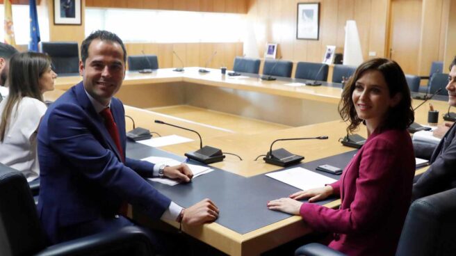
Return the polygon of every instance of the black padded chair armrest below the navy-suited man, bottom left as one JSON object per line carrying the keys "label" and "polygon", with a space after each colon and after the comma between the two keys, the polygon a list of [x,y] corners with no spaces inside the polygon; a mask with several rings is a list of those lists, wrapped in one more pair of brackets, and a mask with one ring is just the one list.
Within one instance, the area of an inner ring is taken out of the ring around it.
{"label": "black padded chair armrest below the navy-suited man, bottom left", "polygon": [[154,255],[149,230],[129,226],[114,232],[102,232],[74,239],[42,250],[36,255]]}

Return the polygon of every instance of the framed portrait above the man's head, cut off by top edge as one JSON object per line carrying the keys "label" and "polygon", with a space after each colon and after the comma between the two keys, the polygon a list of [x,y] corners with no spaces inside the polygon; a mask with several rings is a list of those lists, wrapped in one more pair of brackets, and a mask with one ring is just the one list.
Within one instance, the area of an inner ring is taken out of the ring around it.
{"label": "framed portrait above the man's head, cut off by top edge", "polygon": [[81,0],[54,0],[54,24],[81,25]]}

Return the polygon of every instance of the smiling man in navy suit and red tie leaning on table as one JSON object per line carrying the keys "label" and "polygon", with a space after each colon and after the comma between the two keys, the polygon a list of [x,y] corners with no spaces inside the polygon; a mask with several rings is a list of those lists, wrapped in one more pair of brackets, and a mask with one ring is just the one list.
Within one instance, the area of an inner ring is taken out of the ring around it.
{"label": "smiling man in navy suit and red tie leaning on table", "polygon": [[51,104],[42,119],[38,214],[51,243],[133,225],[120,210],[127,202],[151,218],[187,225],[218,217],[211,200],[183,209],[143,178],[190,182],[193,174],[185,164],[154,166],[125,157],[124,107],[113,95],[122,85],[126,58],[117,35],[89,35],[81,45],[83,81]]}

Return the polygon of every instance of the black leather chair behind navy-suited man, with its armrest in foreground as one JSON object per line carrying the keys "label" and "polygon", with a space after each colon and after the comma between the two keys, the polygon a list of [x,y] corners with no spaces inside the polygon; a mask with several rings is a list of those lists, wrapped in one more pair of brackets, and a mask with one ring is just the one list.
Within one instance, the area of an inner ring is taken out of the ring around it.
{"label": "black leather chair behind navy-suited man, with its armrest in foreground", "polygon": [[148,231],[124,227],[47,246],[29,184],[0,163],[0,255],[153,255]]}

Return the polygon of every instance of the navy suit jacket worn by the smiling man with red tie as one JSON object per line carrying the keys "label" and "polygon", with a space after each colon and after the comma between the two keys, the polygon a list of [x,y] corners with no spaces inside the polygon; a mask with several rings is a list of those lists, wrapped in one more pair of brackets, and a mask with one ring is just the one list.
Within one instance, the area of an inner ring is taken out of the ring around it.
{"label": "navy suit jacket worn by the smiling man with red tie", "polygon": [[[124,107],[119,99],[111,100],[111,112],[125,152]],[[112,229],[115,223],[109,220],[115,219],[122,202],[141,207],[152,218],[160,218],[170,205],[170,199],[143,178],[152,177],[152,163],[129,158],[122,163],[82,82],[51,104],[42,118],[38,158],[38,214],[52,243],[65,241],[65,232],[83,225],[89,234]]]}

